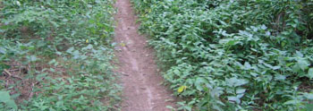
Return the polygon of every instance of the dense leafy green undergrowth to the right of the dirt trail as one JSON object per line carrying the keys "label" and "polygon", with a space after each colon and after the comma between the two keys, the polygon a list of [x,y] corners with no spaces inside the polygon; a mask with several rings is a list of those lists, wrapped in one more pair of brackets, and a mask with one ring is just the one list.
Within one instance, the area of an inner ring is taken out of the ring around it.
{"label": "dense leafy green undergrowth to the right of the dirt trail", "polygon": [[312,0],[132,0],[183,110],[312,110]]}

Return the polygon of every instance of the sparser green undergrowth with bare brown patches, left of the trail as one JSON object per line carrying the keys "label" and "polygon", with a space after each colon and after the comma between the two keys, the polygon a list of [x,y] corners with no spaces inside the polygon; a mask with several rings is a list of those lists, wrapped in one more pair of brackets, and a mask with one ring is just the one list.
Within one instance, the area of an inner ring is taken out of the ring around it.
{"label": "sparser green undergrowth with bare brown patches, left of the trail", "polygon": [[0,110],[115,110],[113,0],[0,0]]}

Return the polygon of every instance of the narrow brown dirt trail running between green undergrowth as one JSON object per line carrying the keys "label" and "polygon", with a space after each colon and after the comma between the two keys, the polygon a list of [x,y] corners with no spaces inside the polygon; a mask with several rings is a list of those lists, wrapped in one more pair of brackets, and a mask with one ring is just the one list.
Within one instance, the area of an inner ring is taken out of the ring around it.
{"label": "narrow brown dirt trail running between green undergrowth", "polygon": [[169,111],[174,106],[171,93],[161,83],[157,74],[153,49],[148,47],[147,38],[138,33],[139,24],[131,8],[130,0],[117,0],[118,13],[115,20],[114,41],[120,51],[118,73],[122,73],[122,111]]}

